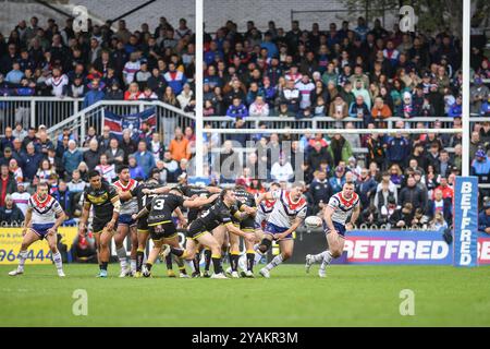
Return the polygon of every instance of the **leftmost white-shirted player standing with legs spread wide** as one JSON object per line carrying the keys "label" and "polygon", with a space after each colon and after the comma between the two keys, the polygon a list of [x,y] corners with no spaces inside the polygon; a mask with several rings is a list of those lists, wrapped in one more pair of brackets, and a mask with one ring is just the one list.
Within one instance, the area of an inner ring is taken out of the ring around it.
{"label": "leftmost white-shirted player standing with legs spread wide", "polygon": [[24,264],[27,258],[27,249],[34,242],[46,238],[49,249],[52,253],[52,260],[57,266],[58,275],[64,276],[61,253],[58,251],[57,229],[66,218],[60,203],[48,194],[48,184],[39,183],[36,194],[34,194],[27,204],[27,212],[24,221],[22,234],[21,251],[19,252],[19,266],[15,270],[9,273],[10,276],[24,274]]}

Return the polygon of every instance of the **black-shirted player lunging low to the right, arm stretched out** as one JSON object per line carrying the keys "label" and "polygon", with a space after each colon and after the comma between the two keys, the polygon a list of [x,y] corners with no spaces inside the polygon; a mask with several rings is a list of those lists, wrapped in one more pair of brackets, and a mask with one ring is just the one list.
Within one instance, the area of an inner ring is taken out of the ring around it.
{"label": "black-shirted player lunging low to the right, arm stretched out", "polygon": [[[185,260],[193,260],[197,251],[197,243],[200,243],[211,250],[211,258],[215,267],[215,274],[211,278],[225,279],[221,266],[221,244],[210,233],[215,228],[223,225],[232,233],[244,237],[246,240],[255,241],[255,234],[244,232],[233,225],[232,212],[235,207],[235,193],[230,189],[224,189],[218,200],[207,212],[194,220],[187,228],[187,243],[185,250],[171,248],[171,252]],[[163,250],[168,253],[168,249]]]}

